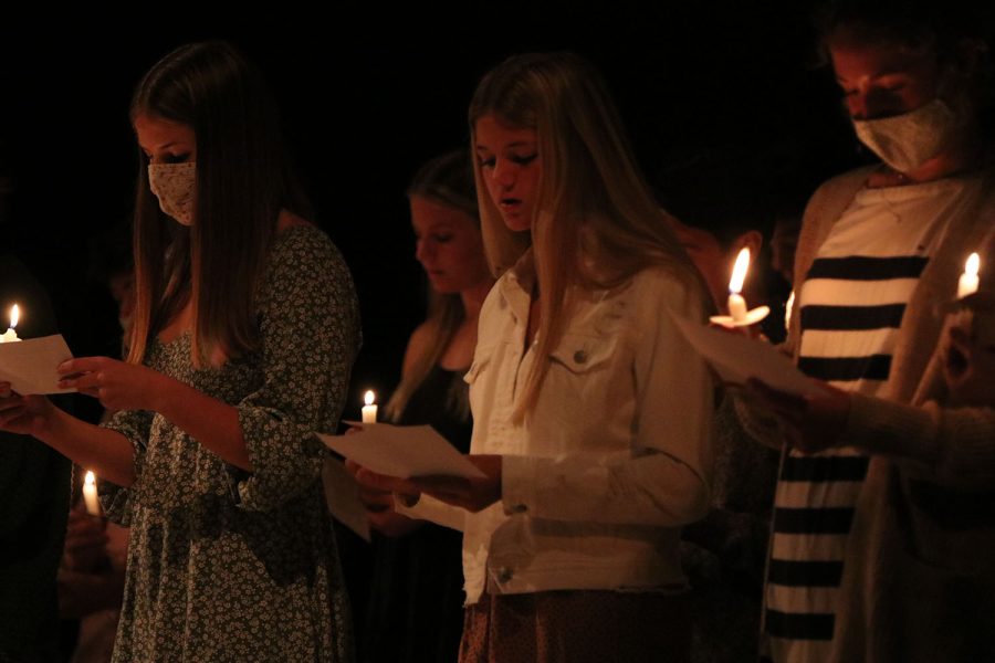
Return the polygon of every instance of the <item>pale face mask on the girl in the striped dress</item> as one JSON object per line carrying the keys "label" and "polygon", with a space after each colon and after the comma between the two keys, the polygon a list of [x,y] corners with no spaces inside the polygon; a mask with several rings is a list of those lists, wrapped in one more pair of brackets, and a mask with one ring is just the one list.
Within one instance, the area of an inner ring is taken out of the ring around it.
{"label": "pale face mask on the girl in the striped dress", "polygon": [[881,119],[855,119],[860,141],[898,170],[915,170],[947,147],[962,117],[936,98],[909,113]]}

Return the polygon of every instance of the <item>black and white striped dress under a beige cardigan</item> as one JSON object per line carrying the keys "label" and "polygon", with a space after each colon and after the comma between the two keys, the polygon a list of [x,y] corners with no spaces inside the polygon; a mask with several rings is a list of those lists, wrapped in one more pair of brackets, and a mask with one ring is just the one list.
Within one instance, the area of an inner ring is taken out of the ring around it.
{"label": "black and white striped dress under a beige cardigan", "polygon": [[[905,304],[963,187],[951,179],[857,193],[798,295],[806,375],[847,391],[881,391]],[[868,462],[847,446],[785,452],[765,588],[762,650],[773,661],[827,659]]]}

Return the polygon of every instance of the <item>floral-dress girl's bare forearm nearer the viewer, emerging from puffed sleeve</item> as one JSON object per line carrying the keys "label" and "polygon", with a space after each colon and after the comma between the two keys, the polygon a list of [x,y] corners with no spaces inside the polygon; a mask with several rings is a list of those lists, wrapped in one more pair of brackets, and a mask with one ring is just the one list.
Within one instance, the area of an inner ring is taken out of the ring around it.
{"label": "floral-dress girl's bare forearm nearer the viewer, emerging from puffed sleeve", "polygon": [[235,407],[165,378],[153,409],[224,462],[252,471]]}

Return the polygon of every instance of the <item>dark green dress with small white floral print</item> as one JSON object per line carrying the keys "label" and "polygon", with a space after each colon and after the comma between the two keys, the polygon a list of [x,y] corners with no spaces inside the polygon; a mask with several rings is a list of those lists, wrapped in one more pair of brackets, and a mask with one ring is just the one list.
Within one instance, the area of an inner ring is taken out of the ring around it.
{"label": "dark green dress with small white floral print", "polygon": [[135,448],[137,480],[102,482],[132,529],[114,661],[349,661],[352,622],[321,482],[360,343],[349,272],[327,236],[275,240],[258,294],[261,347],[195,369],[190,339],[154,343],[146,364],[238,408],[253,472],[160,414],[106,425]]}

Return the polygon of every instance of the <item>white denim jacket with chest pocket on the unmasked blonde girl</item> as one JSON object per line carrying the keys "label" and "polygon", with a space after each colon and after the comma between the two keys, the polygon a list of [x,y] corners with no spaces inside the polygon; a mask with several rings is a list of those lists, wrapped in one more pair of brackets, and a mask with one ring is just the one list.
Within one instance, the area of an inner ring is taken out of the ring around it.
{"label": "white denim jacket with chest pocket on the unmasked blonde girl", "polygon": [[709,506],[713,385],[670,316],[703,320],[701,304],[662,269],[583,295],[515,423],[535,360],[531,278],[526,257],[488,295],[465,378],[471,453],[503,456],[502,501],[469,514],[422,496],[402,511],[464,530],[468,604],[485,588],[680,591],[680,526]]}

